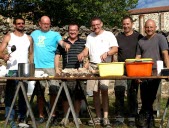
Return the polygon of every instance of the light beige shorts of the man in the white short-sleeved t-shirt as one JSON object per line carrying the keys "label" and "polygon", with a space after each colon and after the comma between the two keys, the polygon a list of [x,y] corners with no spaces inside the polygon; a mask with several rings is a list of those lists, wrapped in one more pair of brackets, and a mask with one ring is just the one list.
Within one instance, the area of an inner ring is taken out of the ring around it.
{"label": "light beige shorts of the man in the white short-sleeved t-shirt", "polygon": [[[97,64],[90,63],[89,70],[98,70]],[[110,80],[87,80],[87,92],[108,90]]]}

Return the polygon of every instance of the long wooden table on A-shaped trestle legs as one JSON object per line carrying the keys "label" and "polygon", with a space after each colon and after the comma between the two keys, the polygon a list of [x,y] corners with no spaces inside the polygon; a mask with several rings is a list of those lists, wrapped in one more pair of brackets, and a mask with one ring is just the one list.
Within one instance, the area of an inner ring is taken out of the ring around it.
{"label": "long wooden table on A-shaped trestle legs", "polygon": [[[127,77],[127,76],[108,76],[108,77],[99,77],[99,76],[91,76],[91,77],[62,77],[62,76],[56,76],[56,77],[0,77],[0,80],[18,80],[20,81],[20,84],[19,86],[17,86],[17,89],[16,89],[16,92],[15,92],[15,96],[14,96],[14,99],[12,101],[12,105],[11,105],[11,109],[9,111],[9,114],[6,118],[6,121],[5,121],[5,128],[6,128],[6,125],[7,125],[7,122],[8,122],[8,119],[9,119],[9,115],[11,113],[11,110],[13,108],[13,105],[15,103],[15,100],[16,100],[16,96],[19,92],[19,89],[21,88],[22,92],[23,92],[23,95],[24,95],[24,98],[25,98],[25,101],[26,101],[26,105],[28,107],[28,111],[30,112],[30,116],[31,116],[31,119],[32,119],[32,122],[33,122],[33,128],[37,128],[36,126],[36,123],[35,123],[35,118],[34,118],[34,115],[33,115],[33,112],[32,112],[32,109],[30,107],[30,104],[29,104],[29,100],[28,100],[28,97],[26,95],[26,91],[25,91],[25,88],[22,84],[23,81],[40,81],[40,80],[124,80],[124,79],[169,79],[169,76],[148,76],[148,77]],[[77,122],[77,119],[76,119],[76,116],[75,116],[75,111],[74,111],[74,107],[73,107],[73,104],[72,104],[72,101],[71,101],[71,98],[70,98],[70,95],[69,95],[69,92],[68,92],[68,88],[65,84],[65,82],[62,83],[60,89],[59,89],[59,92],[58,92],[58,95],[55,99],[55,103],[57,103],[57,100],[59,98],[59,95],[60,95],[60,92],[61,90],[64,88],[65,92],[66,92],[66,96],[68,98],[68,103],[69,103],[69,106],[70,106],[70,110],[73,114],[73,118],[75,120],[75,125],[77,128],[79,128],[79,124]],[[52,116],[52,111],[54,111],[54,107],[52,108],[51,110],[51,113],[50,113],[50,116],[48,118],[48,121],[47,121],[47,124],[46,124],[46,128],[48,128],[48,125],[49,125],[49,121],[50,121],[50,118]]]}

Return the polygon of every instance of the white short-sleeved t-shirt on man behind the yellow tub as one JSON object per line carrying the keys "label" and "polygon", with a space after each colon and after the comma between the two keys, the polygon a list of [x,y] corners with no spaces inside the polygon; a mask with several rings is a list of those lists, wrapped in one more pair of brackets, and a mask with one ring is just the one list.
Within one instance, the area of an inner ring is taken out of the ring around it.
{"label": "white short-sleeved t-shirt on man behind the yellow tub", "polygon": [[[86,47],[89,49],[90,62],[101,63],[100,56],[108,52],[113,46],[118,47],[118,43],[112,32],[104,30],[99,35],[94,32],[89,34],[86,40]],[[111,56],[108,56],[106,60],[111,60]]]}

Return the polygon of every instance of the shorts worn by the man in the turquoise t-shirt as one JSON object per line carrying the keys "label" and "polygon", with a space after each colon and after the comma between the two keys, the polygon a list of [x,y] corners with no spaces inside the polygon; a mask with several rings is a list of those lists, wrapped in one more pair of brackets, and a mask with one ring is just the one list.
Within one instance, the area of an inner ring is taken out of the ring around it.
{"label": "shorts worn by the man in the turquoise t-shirt", "polygon": [[[44,73],[48,74],[49,76],[55,76],[55,69],[54,68],[39,68],[35,71],[44,71]],[[41,80],[35,83],[36,87],[36,94],[38,96],[43,96],[45,92],[45,87],[48,85],[49,87],[49,95],[56,95],[60,84],[58,80]]]}

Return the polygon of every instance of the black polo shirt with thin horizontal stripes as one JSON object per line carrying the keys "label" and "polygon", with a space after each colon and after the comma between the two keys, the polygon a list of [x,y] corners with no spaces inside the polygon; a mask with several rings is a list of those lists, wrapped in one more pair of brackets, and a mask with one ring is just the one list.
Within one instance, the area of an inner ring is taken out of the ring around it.
{"label": "black polo shirt with thin horizontal stripes", "polygon": [[78,38],[72,44],[68,38],[64,40],[66,43],[70,44],[71,47],[68,51],[68,53],[65,51],[64,48],[62,48],[60,45],[58,45],[56,54],[62,55],[62,64],[63,69],[65,68],[79,68],[80,63],[78,61],[77,55],[82,52],[82,50],[85,48],[86,41],[84,39]]}

